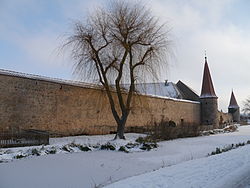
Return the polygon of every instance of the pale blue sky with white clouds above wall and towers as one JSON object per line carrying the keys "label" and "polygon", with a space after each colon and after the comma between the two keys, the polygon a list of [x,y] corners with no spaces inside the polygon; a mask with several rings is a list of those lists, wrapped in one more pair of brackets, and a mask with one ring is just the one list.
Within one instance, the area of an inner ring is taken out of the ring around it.
{"label": "pale blue sky with white clouds above wall and towers", "polygon": [[[131,0],[132,1],[132,0]],[[0,68],[74,79],[71,59],[60,53],[72,20],[84,19],[106,0],[0,0]],[[204,51],[219,108],[234,88],[238,103],[250,95],[250,1],[144,0],[171,28],[173,57],[162,80],[179,79],[200,93]]]}

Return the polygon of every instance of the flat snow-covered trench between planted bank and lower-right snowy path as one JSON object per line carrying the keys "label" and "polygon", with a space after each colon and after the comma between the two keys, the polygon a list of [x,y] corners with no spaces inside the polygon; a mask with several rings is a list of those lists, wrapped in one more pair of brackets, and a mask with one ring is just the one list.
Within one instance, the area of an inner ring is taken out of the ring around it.
{"label": "flat snow-covered trench between planted bank and lower-right snowy path", "polygon": [[[101,136],[100,138],[102,137],[107,140],[107,136]],[[112,139],[112,136],[108,138]],[[77,137],[77,139],[81,138]],[[181,165],[185,161],[191,163],[196,161],[193,159],[199,158],[201,158],[199,160],[204,161],[217,160],[217,156],[207,158],[207,154],[214,151],[216,147],[224,147],[232,143],[236,144],[248,140],[250,140],[250,126],[242,126],[239,127],[238,132],[234,133],[161,142],[159,148],[149,152],[94,151],[60,153],[14,160],[10,163],[0,163],[0,188],[101,187],[161,168],[164,170],[163,167],[179,168],[184,173],[188,171],[188,169],[185,170],[188,166],[178,167],[179,164]],[[61,144],[61,142],[65,142],[65,139],[54,140],[53,144]],[[85,142],[92,142],[92,137],[85,138]],[[249,146],[244,146],[242,149],[249,149]],[[240,151],[240,149],[230,152],[237,151]],[[230,152],[227,153],[230,154]],[[203,162],[203,165],[206,168],[201,166],[201,169],[210,168],[205,163]],[[169,175],[174,176],[171,172],[169,172]],[[189,181],[196,180],[189,179]]]}

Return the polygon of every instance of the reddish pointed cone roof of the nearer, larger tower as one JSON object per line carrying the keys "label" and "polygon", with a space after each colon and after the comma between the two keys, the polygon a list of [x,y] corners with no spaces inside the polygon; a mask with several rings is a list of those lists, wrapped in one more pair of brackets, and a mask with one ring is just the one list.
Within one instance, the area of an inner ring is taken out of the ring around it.
{"label": "reddish pointed cone roof of the nearer, larger tower", "polygon": [[214,86],[210,71],[207,64],[207,57],[205,56],[205,66],[203,73],[202,89],[200,98],[218,98],[214,91]]}

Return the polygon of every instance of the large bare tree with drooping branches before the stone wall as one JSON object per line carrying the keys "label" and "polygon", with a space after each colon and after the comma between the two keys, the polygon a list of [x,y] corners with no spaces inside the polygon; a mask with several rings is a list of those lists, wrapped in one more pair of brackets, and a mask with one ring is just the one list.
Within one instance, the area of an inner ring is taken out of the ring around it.
{"label": "large bare tree with drooping branches before the stone wall", "polygon": [[[148,73],[157,76],[166,65],[167,34],[145,6],[127,1],[114,1],[74,23],[64,46],[71,47],[75,72],[104,87],[117,123],[115,139],[125,139],[135,83]],[[124,83],[129,84],[126,91]]]}

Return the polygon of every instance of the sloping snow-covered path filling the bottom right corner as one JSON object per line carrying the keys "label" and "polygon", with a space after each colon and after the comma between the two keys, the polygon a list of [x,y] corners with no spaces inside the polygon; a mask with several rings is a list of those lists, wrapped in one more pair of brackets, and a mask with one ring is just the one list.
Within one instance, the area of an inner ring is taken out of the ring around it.
{"label": "sloping snow-covered path filling the bottom right corner", "polygon": [[106,188],[250,187],[250,146],[127,178]]}

